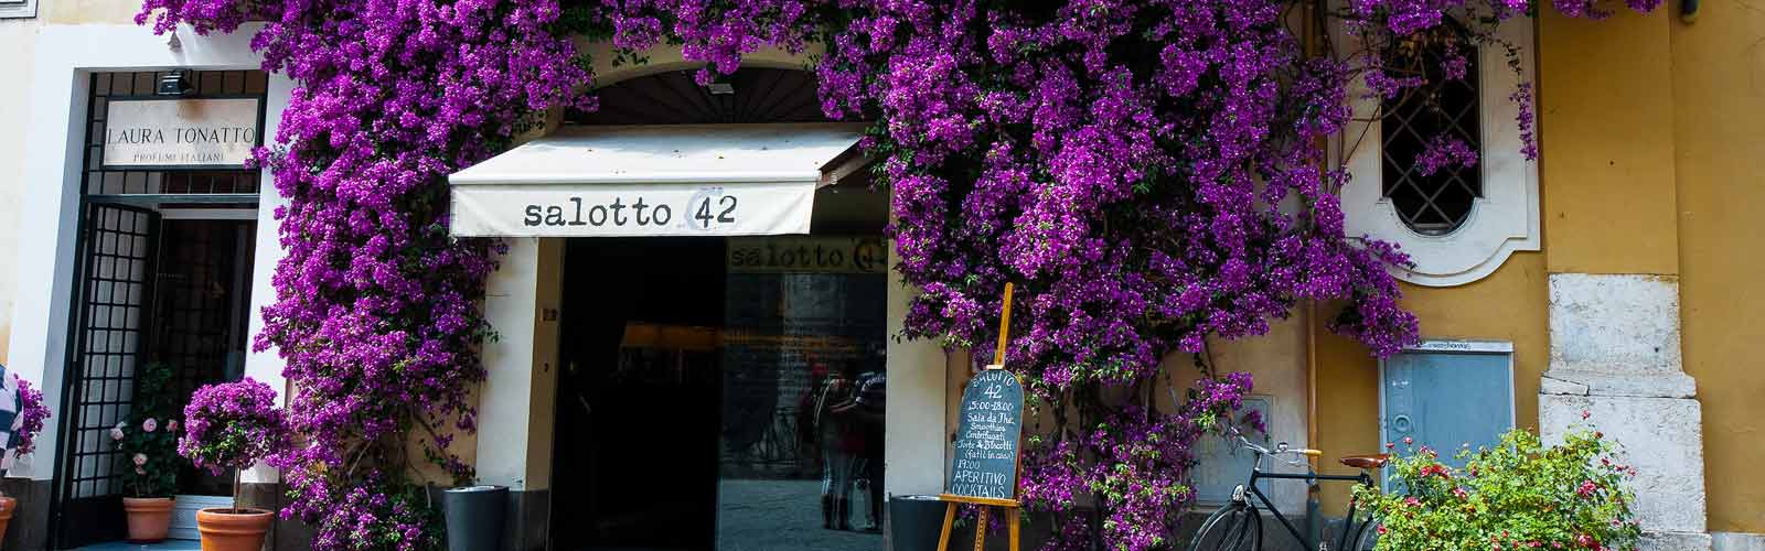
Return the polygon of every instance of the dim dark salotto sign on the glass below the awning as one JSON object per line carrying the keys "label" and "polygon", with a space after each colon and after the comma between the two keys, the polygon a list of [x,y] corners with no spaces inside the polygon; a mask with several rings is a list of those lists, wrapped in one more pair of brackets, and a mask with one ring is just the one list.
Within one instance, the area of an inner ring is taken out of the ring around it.
{"label": "dim dark salotto sign on the glass below the awning", "polygon": [[881,237],[736,237],[731,274],[882,274],[888,244]]}

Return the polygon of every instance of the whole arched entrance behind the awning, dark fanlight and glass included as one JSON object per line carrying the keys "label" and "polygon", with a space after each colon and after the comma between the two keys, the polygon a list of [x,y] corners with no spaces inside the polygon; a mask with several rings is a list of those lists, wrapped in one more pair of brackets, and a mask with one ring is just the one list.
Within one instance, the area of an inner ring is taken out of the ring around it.
{"label": "whole arched entrance behind the awning, dark fanlight and glass included", "polygon": [[[828,122],[789,69],[597,95],[561,132]],[[565,238],[552,549],[881,549],[886,219],[860,173],[808,235]]]}

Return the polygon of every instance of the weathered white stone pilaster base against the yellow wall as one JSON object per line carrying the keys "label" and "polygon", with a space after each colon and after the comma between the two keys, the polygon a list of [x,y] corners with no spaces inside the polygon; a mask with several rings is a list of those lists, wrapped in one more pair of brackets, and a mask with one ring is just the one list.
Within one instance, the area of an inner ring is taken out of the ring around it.
{"label": "weathered white stone pilaster base against the yellow wall", "polygon": [[1638,470],[1631,484],[1647,551],[1710,549],[1694,396],[1682,371],[1677,277],[1550,276],[1539,433],[1562,442],[1571,426],[1588,424],[1619,442],[1619,461]]}

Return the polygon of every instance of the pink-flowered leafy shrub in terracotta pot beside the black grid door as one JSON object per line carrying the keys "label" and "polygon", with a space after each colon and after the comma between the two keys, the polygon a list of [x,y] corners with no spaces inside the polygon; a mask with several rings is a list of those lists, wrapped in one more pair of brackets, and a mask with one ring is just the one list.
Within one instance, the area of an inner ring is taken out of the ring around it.
{"label": "pink-flowered leafy shrub in terracotta pot beside the black grid door", "polygon": [[111,442],[122,452],[122,510],[129,516],[129,540],[159,542],[171,528],[171,494],[178,489],[178,422],[169,419],[169,364],[146,364],[134,376],[134,404],[111,427]]}

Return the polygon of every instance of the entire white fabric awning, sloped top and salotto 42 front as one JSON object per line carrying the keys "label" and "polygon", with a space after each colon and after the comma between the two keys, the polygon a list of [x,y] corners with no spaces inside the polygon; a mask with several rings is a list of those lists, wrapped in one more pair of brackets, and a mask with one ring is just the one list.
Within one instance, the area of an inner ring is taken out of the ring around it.
{"label": "entire white fabric awning, sloped top and salotto 42 front", "polygon": [[808,233],[861,124],[567,127],[448,177],[459,237]]}

